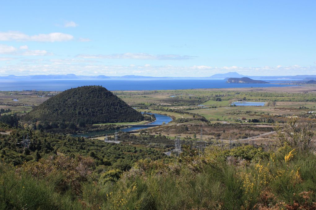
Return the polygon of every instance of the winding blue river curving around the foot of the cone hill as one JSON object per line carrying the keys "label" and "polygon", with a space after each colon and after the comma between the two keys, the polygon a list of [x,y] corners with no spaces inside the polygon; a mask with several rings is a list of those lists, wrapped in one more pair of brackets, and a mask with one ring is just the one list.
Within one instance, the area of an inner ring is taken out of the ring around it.
{"label": "winding blue river curving around the foot of the cone hill", "polygon": [[82,137],[89,137],[89,136],[96,136],[96,135],[105,135],[105,134],[112,134],[115,132],[129,132],[129,131],[135,131],[143,128],[149,128],[152,127],[153,125],[161,125],[163,122],[166,124],[172,121],[172,118],[169,116],[161,115],[161,114],[155,114],[155,113],[149,113],[149,114],[154,114],[156,117],[155,122],[148,123],[146,125],[142,126],[137,126],[137,127],[128,127],[128,128],[120,128],[120,129],[112,129],[112,130],[104,130],[104,131],[93,131],[93,132],[87,132],[87,133],[80,133],[80,134],[73,134],[72,136],[77,137],[77,136],[82,136]]}

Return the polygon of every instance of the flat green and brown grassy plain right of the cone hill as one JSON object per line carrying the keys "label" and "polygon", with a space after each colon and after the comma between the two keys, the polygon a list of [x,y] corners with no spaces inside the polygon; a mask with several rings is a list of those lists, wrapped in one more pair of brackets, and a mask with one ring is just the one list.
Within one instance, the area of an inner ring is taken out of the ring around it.
{"label": "flat green and brown grassy plain right of the cone hill", "polygon": [[[205,139],[214,139],[216,134],[221,135],[221,139],[238,139],[268,132],[264,131],[263,127],[272,126],[273,128],[275,125],[266,122],[269,118],[272,118],[273,122],[281,124],[292,115],[299,116],[301,120],[308,122],[315,122],[316,118],[313,113],[308,113],[308,111],[316,110],[315,86],[119,91],[114,93],[128,104],[138,107],[139,111],[173,116],[175,120],[171,123],[176,125],[147,130],[149,133],[161,133],[172,137],[180,133],[182,138],[194,139],[195,135],[199,138],[200,128],[203,128]],[[216,101],[216,98],[221,98],[221,101]],[[266,102],[266,105],[230,106],[232,102],[244,98],[246,101]],[[212,125],[198,120],[197,117],[199,116],[205,117],[211,123],[219,122],[226,125],[223,125],[222,130],[219,131]],[[248,119],[259,119],[261,122],[247,122]],[[241,127],[230,129],[229,124],[249,126],[249,128],[246,130],[241,129]],[[181,130],[182,125],[187,125],[188,130]],[[258,130],[258,126],[262,126],[262,131]],[[211,132],[212,130],[215,131],[215,134]],[[267,138],[269,135],[256,138],[255,141],[266,143],[269,141]]]}

